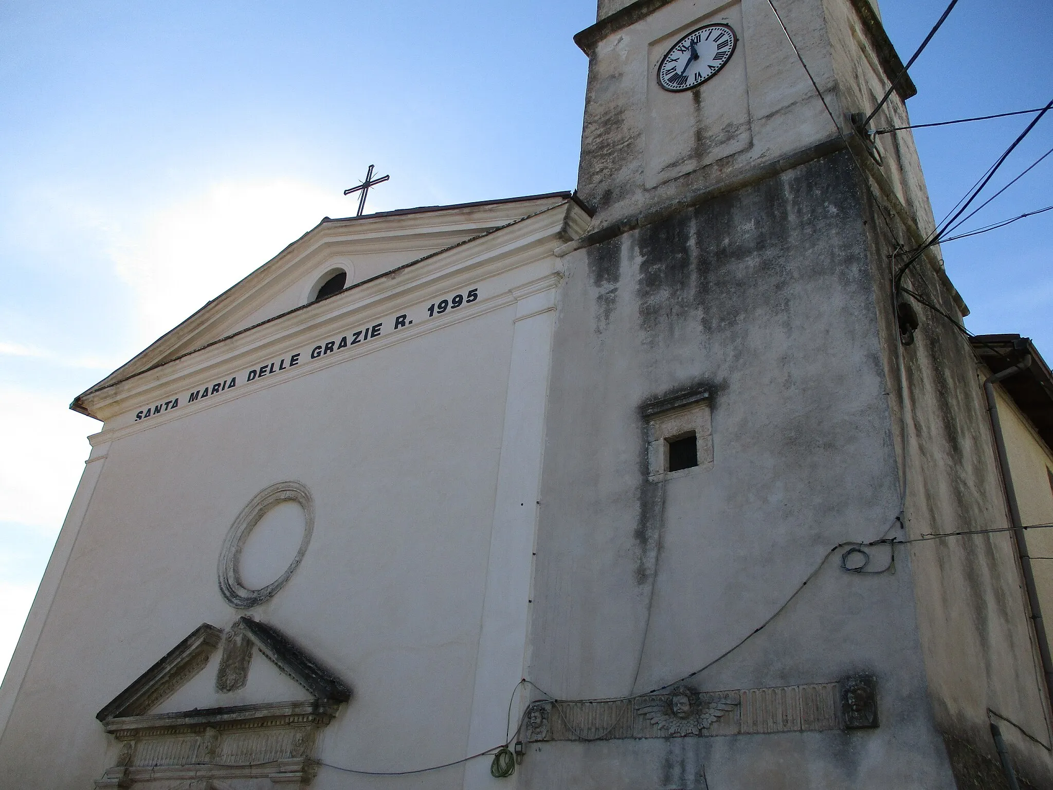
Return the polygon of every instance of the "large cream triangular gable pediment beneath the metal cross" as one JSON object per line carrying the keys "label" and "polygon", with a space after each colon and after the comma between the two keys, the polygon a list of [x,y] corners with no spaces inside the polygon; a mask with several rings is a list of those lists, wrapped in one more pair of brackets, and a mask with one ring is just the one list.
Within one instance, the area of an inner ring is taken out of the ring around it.
{"label": "large cream triangular gable pediment beneath the metal cross", "polygon": [[[351,291],[571,200],[570,193],[553,193],[346,219],[325,217],[273,259],[78,396],[72,408],[96,416],[87,404],[94,393],[232,336],[257,330],[290,313],[324,310],[329,300],[314,302],[313,296],[337,271],[346,273],[344,292]],[[580,208],[578,213],[583,214]],[[338,293],[330,298],[341,297]]]}

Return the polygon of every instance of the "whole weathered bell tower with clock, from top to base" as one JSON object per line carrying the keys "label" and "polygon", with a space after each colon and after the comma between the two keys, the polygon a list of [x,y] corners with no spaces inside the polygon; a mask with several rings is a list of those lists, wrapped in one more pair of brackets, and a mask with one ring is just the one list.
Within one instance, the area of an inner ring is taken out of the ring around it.
{"label": "whole weathered bell tower with clock, from top to base", "polygon": [[1010,538],[916,541],[1008,521],[913,138],[854,125],[910,123],[876,6],[598,7],[524,786],[1008,787],[989,711],[1048,786]]}

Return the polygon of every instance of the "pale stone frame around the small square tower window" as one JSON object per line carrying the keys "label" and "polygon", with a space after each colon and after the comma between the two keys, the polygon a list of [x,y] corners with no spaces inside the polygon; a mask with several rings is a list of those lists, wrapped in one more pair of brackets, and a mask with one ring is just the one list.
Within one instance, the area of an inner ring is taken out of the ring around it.
{"label": "pale stone frame around the small square tower window", "polygon": [[[692,390],[643,406],[648,481],[662,482],[713,468],[713,411],[709,390]],[[669,442],[694,432],[698,466],[669,471]]]}

